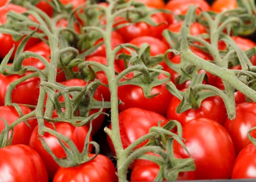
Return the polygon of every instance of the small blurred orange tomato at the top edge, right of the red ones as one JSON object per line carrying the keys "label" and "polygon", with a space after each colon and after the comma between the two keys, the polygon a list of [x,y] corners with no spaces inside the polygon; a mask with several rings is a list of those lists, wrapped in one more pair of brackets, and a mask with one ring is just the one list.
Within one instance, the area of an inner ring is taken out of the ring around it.
{"label": "small blurred orange tomato at the top edge, right of the red ones", "polygon": [[216,12],[226,11],[228,9],[235,9],[237,8],[237,0],[215,0],[211,5],[211,10]]}

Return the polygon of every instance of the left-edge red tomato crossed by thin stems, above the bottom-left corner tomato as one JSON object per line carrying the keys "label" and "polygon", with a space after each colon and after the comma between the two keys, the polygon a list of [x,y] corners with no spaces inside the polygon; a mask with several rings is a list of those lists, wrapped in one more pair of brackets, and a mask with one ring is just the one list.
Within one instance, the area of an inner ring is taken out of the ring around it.
{"label": "left-edge red tomato crossed by thin stems, above the bottom-left corner tomato", "polygon": [[[20,105],[22,113],[28,114],[31,112],[31,109],[27,106]],[[19,113],[13,106],[0,106],[0,118],[4,118],[7,123],[10,125],[15,120],[20,117]],[[29,139],[32,134],[33,128],[37,125],[36,119],[30,119],[26,121],[29,126],[23,121],[17,124],[14,127],[13,139],[11,140],[11,145],[15,144],[29,144]],[[0,132],[4,129],[5,123],[0,119]],[[10,134],[9,134],[10,135]]]}

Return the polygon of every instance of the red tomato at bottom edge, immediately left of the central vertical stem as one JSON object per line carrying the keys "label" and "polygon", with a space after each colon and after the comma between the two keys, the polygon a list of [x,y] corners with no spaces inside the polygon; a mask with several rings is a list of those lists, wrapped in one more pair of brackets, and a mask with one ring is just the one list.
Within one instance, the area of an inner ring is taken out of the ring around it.
{"label": "red tomato at bottom edge, immediately left of the central vertical stem", "polygon": [[[90,154],[92,157],[95,154]],[[74,167],[59,167],[53,182],[80,182],[80,181],[118,181],[112,161],[105,155],[98,154],[95,159]]]}

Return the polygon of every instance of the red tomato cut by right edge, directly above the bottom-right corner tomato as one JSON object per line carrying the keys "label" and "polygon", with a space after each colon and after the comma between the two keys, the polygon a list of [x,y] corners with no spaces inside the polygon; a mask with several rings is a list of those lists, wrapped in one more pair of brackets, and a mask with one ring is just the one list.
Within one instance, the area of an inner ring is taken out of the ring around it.
{"label": "red tomato cut by right edge, directly above the bottom-right corner tomato", "polygon": [[[236,118],[234,120],[227,119],[225,122],[225,127],[234,142],[237,154],[251,143],[247,133],[254,126],[256,126],[256,102],[239,103],[236,106]],[[250,134],[256,137],[256,131],[252,131]]]}

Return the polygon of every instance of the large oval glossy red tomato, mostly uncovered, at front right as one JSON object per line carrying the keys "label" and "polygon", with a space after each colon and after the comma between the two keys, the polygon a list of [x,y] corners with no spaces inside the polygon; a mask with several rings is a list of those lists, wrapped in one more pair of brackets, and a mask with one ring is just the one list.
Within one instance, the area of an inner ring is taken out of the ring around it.
{"label": "large oval glossy red tomato, mostly uncovered, at front right", "polygon": [[[199,118],[187,122],[182,129],[182,138],[195,162],[196,179],[229,179],[236,153],[230,135],[214,120]],[[175,153],[189,158],[188,153],[173,143]]]}

